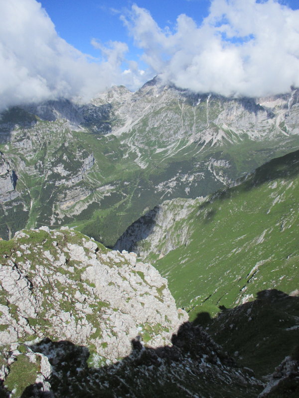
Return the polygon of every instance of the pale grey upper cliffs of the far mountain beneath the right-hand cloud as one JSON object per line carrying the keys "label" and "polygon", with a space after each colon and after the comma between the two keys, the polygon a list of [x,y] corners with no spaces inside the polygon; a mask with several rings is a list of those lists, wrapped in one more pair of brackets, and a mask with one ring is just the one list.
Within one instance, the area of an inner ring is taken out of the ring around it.
{"label": "pale grey upper cliffs of the far mountain beneath the right-hand cloud", "polygon": [[[113,103],[113,98],[111,91],[106,100]],[[126,115],[127,122],[112,132],[122,134],[133,129],[139,144],[149,138],[164,142],[187,138],[219,145],[238,136],[242,139],[242,135],[263,139],[269,133],[298,134],[294,125],[299,116],[298,90],[271,98],[228,99],[178,90],[155,78],[118,104],[116,112]]]}

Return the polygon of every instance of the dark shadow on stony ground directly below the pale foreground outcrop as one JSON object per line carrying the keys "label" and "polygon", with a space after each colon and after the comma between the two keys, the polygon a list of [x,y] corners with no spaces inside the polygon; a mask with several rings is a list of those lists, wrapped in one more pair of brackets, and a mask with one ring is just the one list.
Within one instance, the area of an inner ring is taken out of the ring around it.
{"label": "dark shadow on stony ground directly below the pale foreground outcrop", "polygon": [[[49,382],[59,398],[254,398],[262,390],[252,372],[239,368],[202,327],[183,323],[172,344],[145,348],[138,336],[129,356],[102,368],[89,367],[86,348],[67,341],[44,339],[31,348],[48,357],[53,370]],[[22,398],[48,398],[46,394],[33,385]]]}

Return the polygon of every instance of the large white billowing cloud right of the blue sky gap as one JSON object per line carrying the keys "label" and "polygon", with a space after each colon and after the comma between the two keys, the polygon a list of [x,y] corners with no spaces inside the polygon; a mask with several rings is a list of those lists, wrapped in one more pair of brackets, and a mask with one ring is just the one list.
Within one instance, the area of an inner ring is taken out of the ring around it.
{"label": "large white billowing cloud right of the blue sky gap", "polygon": [[174,31],[137,5],[123,20],[153,73],[178,87],[249,97],[299,87],[299,10],[275,0],[212,0],[200,26],[181,14]]}

